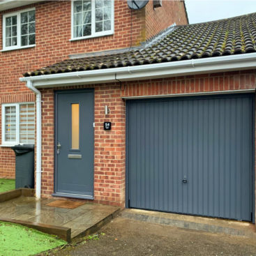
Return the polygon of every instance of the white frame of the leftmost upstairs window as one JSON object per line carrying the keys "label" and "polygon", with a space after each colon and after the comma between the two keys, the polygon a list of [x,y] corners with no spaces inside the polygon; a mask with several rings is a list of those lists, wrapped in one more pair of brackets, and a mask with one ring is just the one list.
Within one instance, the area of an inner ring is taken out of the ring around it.
{"label": "white frame of the leftmost upstairs window", "polygon": [[[3,19],[2,19],[3,20],[3,22],[2,22],[3,23],[2,24],[3,25],[2,26],[3,50],[1,50],[1,52],[9,51],[9,50],[24,49],[24,48],[29,48],[29,47],[35,47],[36,46],[36,44],[21,46],[21,22],[20,22],[21,13],[26,13],[26,12],[29,12],[31,10],[36,10],[36,8],[29,8],[29,9],[25,9],[25,10],[20,10],[20,11],[15,12],[15,13],[7,13],[7,14],[3,15]],[[12,16],[17,16],[17,45],[6,47],[6,17],[12,17]],[[35,20],[35,22],[36,22],[36,20]]]}

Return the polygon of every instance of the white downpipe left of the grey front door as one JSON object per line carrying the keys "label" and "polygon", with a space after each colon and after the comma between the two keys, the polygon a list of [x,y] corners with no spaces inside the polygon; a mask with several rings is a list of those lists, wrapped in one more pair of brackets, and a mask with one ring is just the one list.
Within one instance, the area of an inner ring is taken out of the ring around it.
{"label": "white downpipe left of the grey front door", "polygon": [[41,93],[36,89],[31,80],[27,81],[27,87],[36,93],[36,199],[41,197],[41,176],[42,176],[42,111],[41,111]]}

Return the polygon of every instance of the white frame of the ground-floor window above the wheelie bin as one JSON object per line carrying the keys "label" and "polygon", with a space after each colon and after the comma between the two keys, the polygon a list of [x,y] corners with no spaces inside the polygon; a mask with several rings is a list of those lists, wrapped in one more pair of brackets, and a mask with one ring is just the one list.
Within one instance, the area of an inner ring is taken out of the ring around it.
{"label": "white frame of the ground-floor window above the wheelie bin", "polygon": [[[6,103],[2,104],[2,144],[1,146],[15,146],[17,144],[24,144],[20,143],[20,105],[29,105],[33,104],[34,109],[35,109],[35,103],[29,102],[29,103]],[[6,142],[6,107],[16,107],[16,141],[15,142]],[[36,113],[36,111],[34,111]],[[36,119],[35,119],[36,120]],[[35,121],[36,122],[36,121]],[[35,134],[36,134],[36,128],[35,128],[35,123],[34,123],[34,129],[35,129]]]}

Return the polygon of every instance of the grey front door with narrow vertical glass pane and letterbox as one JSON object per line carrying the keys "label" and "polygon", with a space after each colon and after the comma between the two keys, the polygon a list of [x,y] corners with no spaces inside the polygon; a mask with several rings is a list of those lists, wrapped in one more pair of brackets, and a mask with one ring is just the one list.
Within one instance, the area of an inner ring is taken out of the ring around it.
{"label": "grey front door with narrow vertical glass pane and letterbox", "polygon": [[93,199],[91,89],[55,93],[55,195]]}

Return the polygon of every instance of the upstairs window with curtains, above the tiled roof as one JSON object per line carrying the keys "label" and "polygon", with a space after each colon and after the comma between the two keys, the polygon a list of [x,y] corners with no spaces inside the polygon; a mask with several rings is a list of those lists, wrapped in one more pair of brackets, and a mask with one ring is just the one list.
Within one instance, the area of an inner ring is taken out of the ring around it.
{"label": "upstairs window with curtains, above the tiled roof", "polygon": [[72,39],[114,33],[114,0],[72,2]]}

